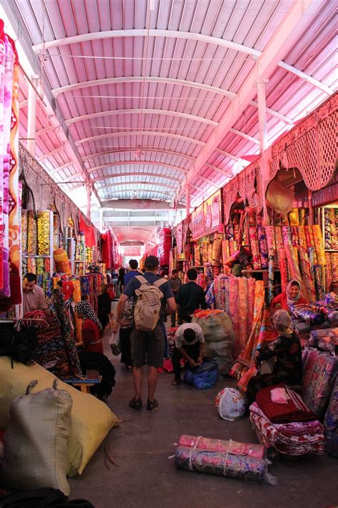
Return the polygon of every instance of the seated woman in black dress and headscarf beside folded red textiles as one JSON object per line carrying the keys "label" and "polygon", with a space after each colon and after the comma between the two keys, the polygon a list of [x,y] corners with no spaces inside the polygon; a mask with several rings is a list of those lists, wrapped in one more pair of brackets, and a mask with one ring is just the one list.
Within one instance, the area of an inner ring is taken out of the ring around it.
{"label": "seated woman in black dress and headscarf beside folded red textiles", "polygon": [[255,402],[257,392],[274,384],[301,384],[302,349],[295,332],[290,329],[291,319],[285,309],[275,312],[272,324],[278,334],[274,342],[256,352],[256,362],[275,359],[271,374],[257,374],[247,384],[247,402]]}

